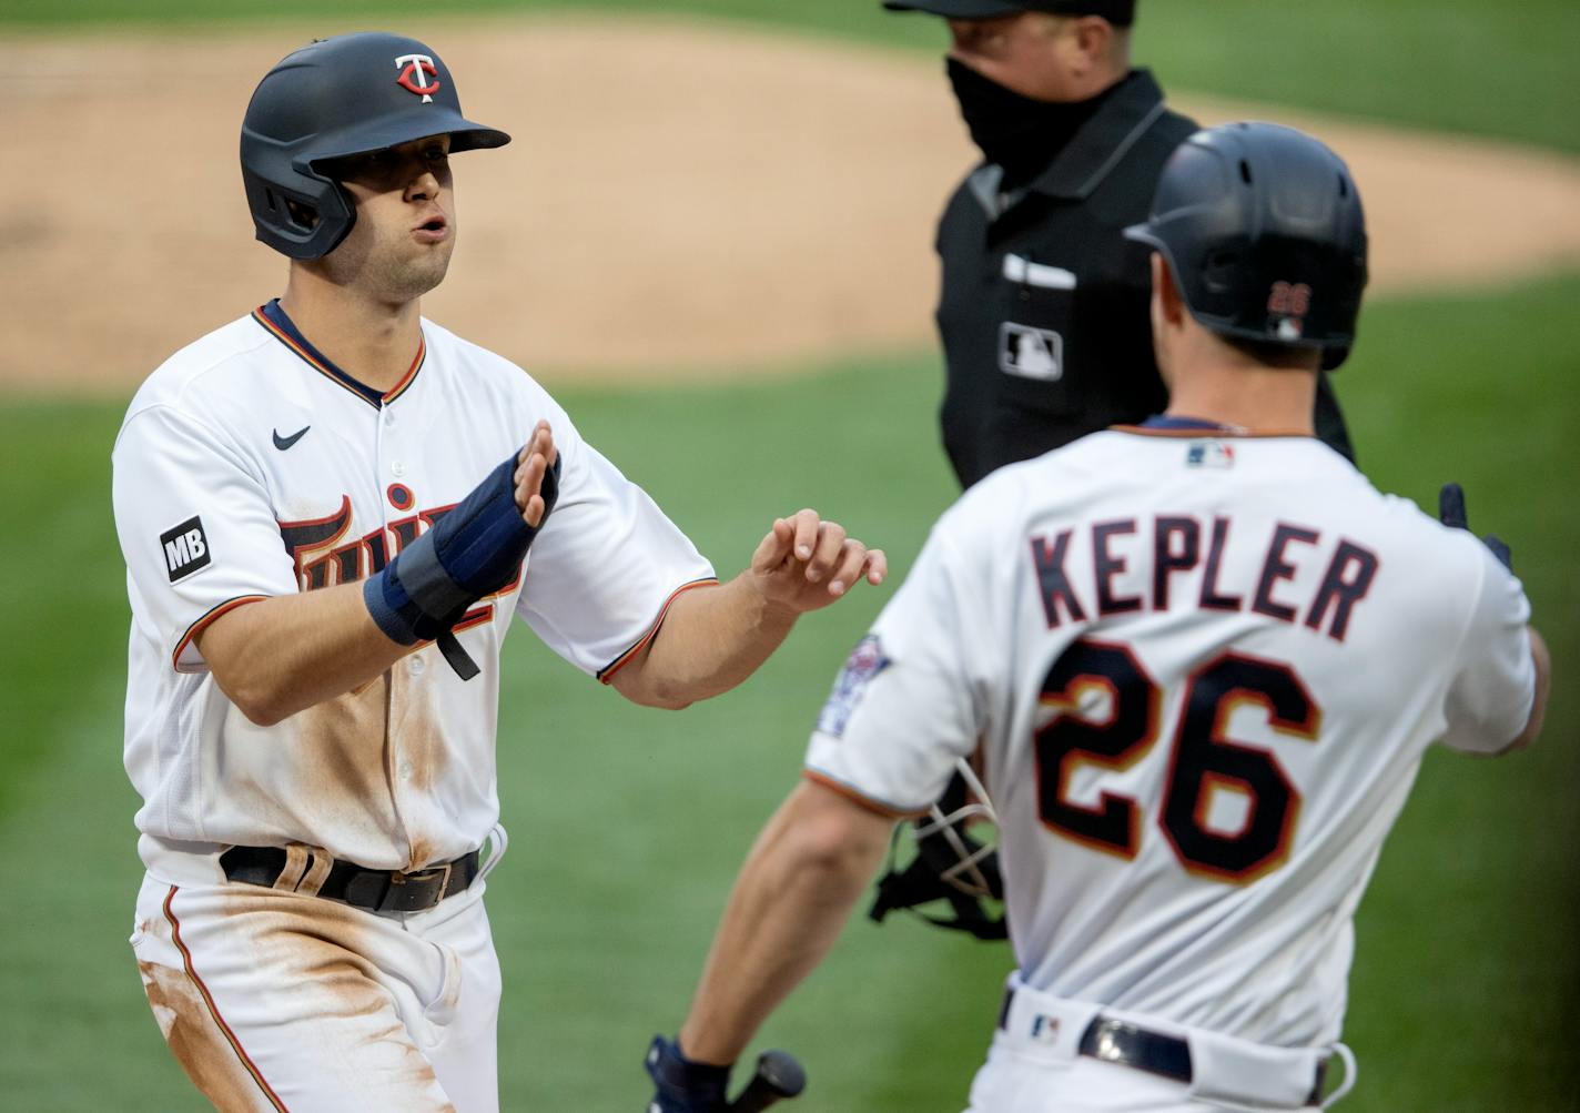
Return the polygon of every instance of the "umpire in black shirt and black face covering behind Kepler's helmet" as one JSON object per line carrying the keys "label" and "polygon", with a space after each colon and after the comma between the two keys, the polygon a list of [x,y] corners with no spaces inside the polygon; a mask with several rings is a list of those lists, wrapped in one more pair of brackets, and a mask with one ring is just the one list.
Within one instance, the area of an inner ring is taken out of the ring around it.
{"label": "umpire in black shirt and black face covering behind Kepler's helmet", "polygon": [[[948,19],[948,74],[984,161],[939,221],[943,446],[962,487],[1160,413],[1147,220],[1193,131],[1130,68],[1134,0],[885,0]],[[1318,435],[1352,457],[1321,376]]]}

